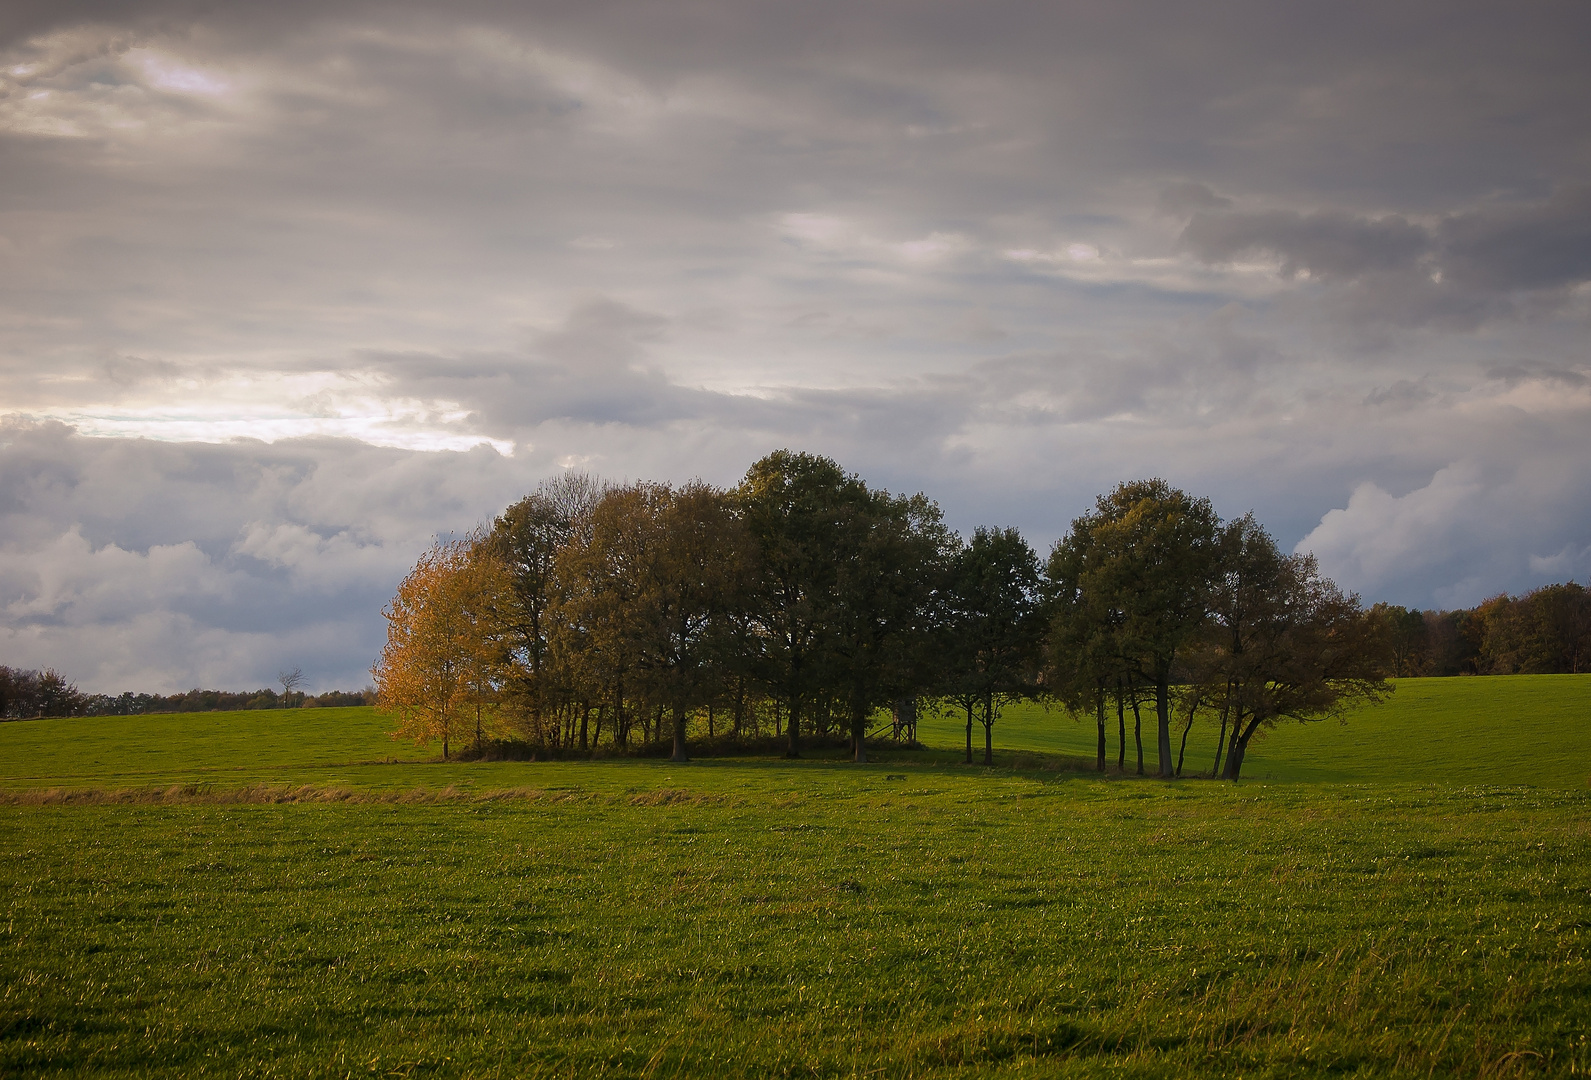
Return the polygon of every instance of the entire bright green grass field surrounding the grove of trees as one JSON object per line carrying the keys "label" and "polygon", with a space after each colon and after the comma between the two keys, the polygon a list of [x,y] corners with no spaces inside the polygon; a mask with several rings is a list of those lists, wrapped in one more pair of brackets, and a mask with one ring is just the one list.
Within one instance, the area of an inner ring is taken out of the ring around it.
{"label": "entire bright green grass field surrounding the grove of trees", "polygon": [[1405,682],[1239,786],[1036,711],[993,770],[5,724],[0,1075],[1580,1075],[1588,706]]}

